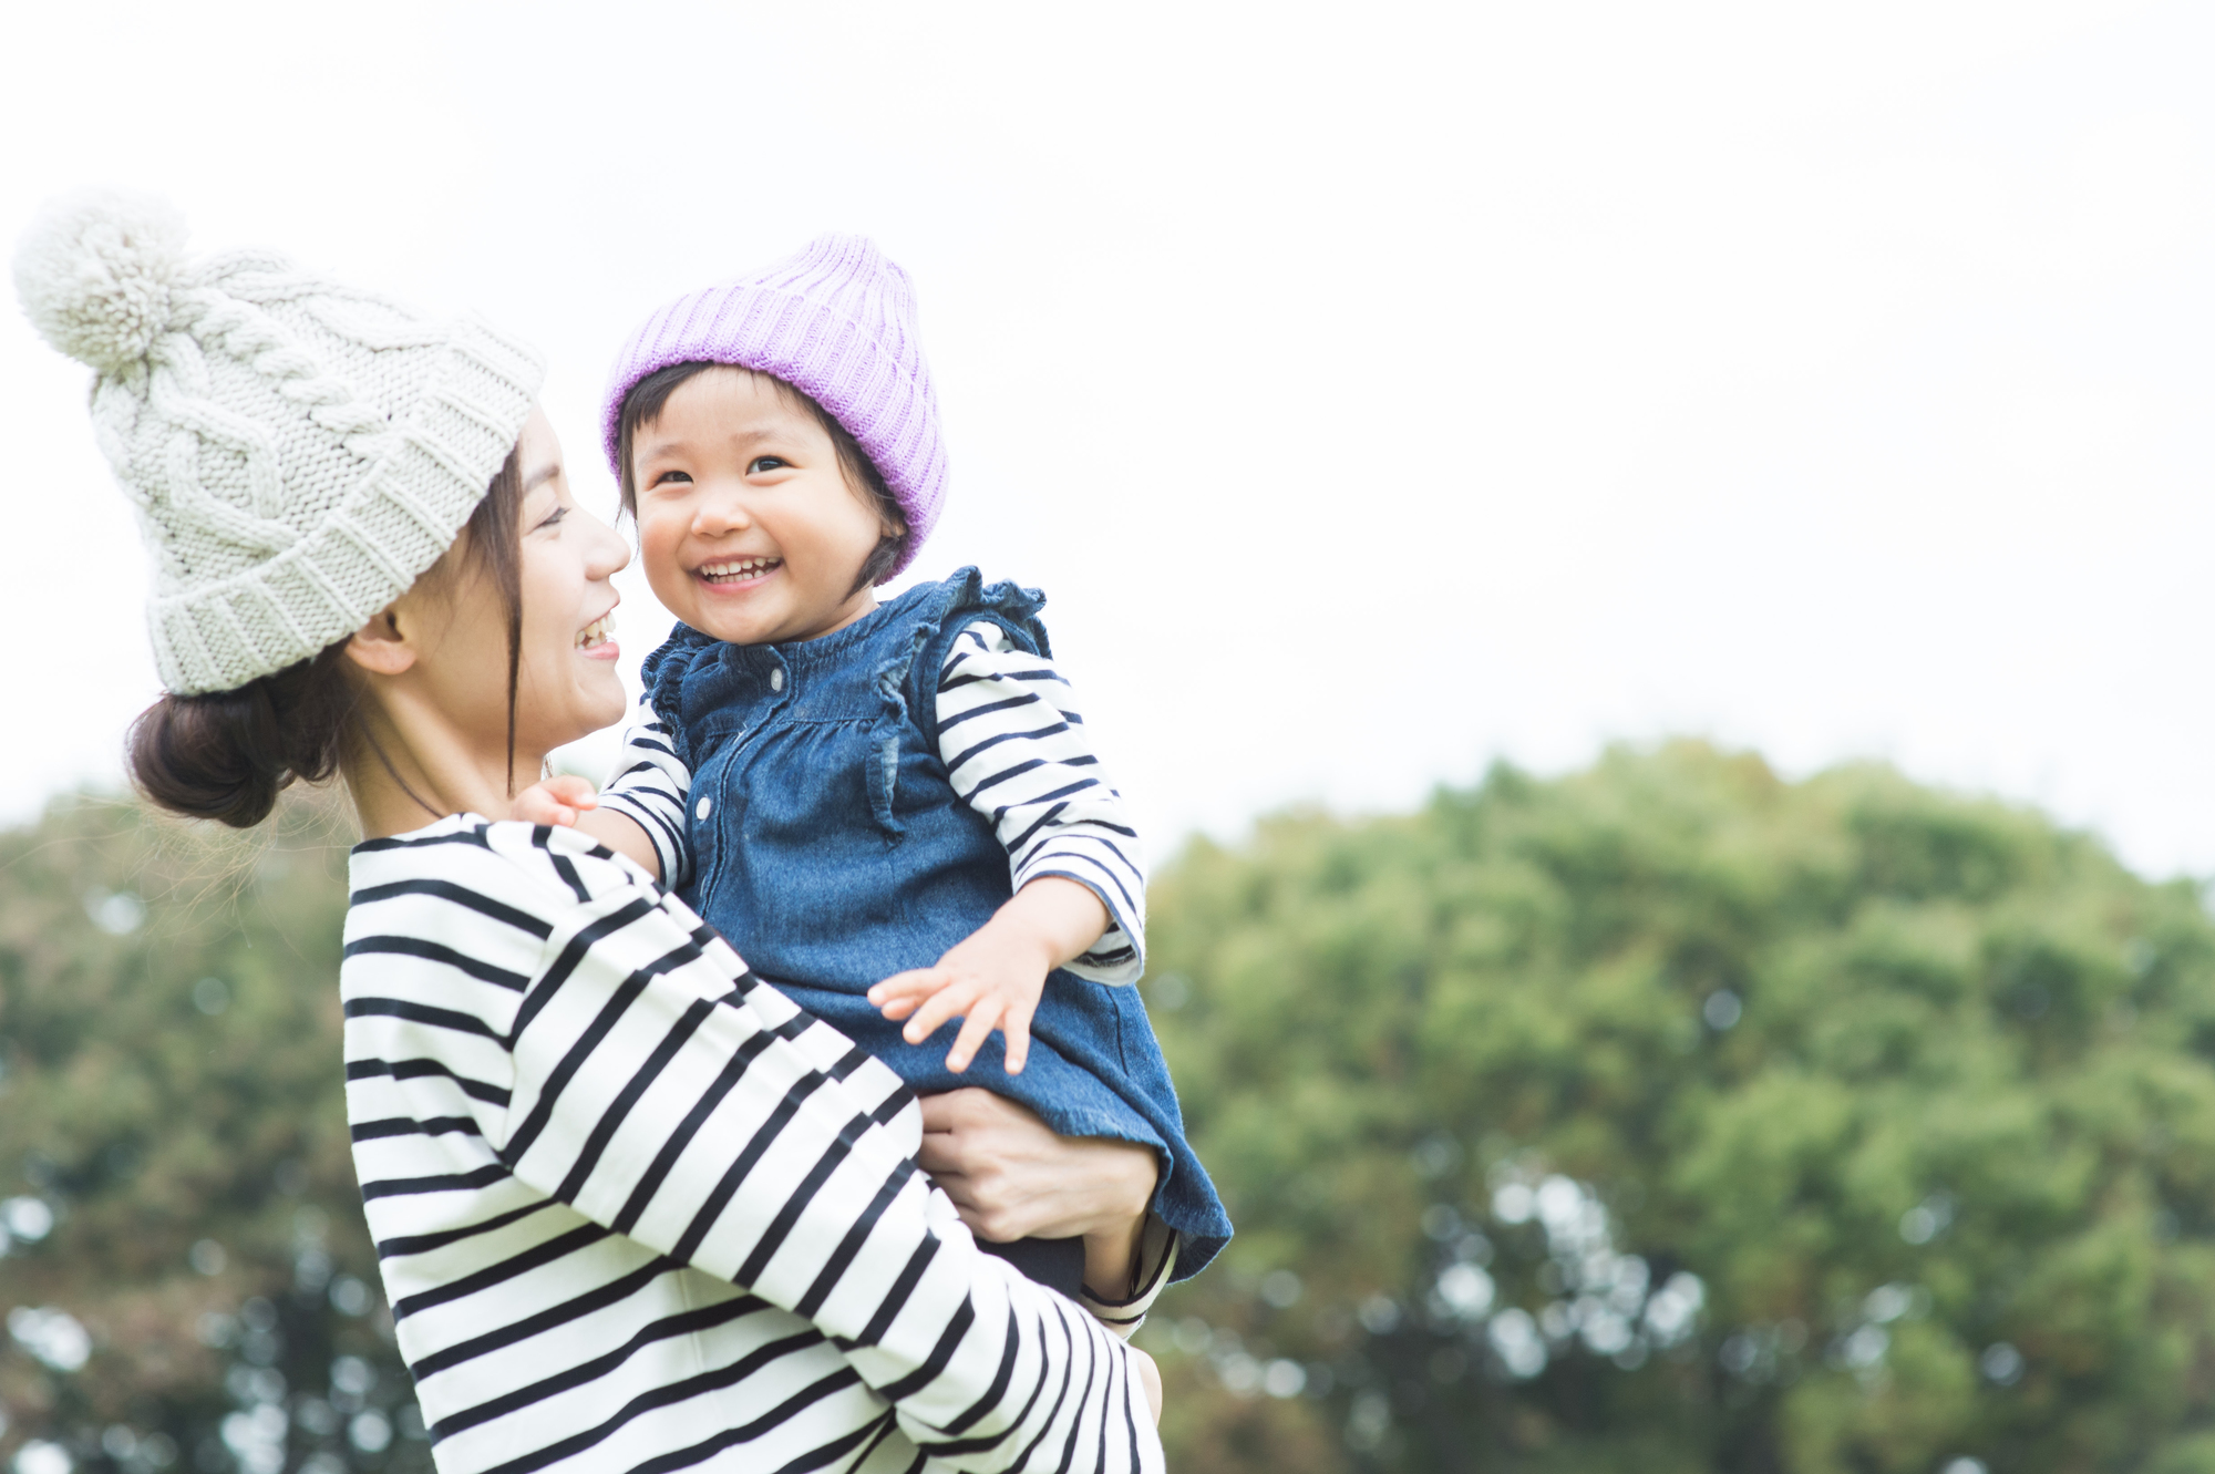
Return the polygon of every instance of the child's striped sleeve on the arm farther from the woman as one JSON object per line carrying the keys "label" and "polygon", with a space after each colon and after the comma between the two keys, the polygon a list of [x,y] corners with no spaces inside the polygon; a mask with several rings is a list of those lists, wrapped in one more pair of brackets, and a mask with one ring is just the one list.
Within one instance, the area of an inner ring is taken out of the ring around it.
{"label": "child's striped sleeve on the arm farther from the woman", "polygon": [[1145,972],[1145,859],[1068,682],[979,620],[946,655],[937,717],[939,761],[961,801],[992,821],[1014,890],[1059,874],[1108,907],[1108,932],[1070,972],[1136,983]]}

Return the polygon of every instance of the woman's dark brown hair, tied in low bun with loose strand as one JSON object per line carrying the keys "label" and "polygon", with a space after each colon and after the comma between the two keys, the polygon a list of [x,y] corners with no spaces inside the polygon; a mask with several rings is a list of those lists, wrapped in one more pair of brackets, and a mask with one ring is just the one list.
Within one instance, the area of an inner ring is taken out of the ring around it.
{"label": "woman's dark brown hair, tied in low bun with loose strand", "polygon": [[[521,502],[518,447],[507,451],[465,525],[470,562],[492,575],[507,609],[509,792],[516,788],[516,677],[523,662]],[[346,640],[237,691],[164,695],[131,724],[124,741],[131,781],[171,812],[217,819],[235,830],[253,828],[295,781],[332,779],[357,735],[392,770],[377,741],[357,728],[359,704],[359,688],[346,671]],[[412,790],[410,797],[423,803]]]}

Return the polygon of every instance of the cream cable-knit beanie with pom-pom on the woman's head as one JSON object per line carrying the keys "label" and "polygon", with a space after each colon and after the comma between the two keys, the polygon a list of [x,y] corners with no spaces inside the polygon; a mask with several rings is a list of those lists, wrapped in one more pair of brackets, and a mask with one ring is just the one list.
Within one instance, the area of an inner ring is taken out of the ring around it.
{"label": "cream cable-knit beanie with pom-pom on the woman's head", "polygon": [[16,252],[153,551],[155,666],[233,691],[350,635],[454,542],[523,434],[536,352],[264,250],[188,261],[157,199],[55,201]]}

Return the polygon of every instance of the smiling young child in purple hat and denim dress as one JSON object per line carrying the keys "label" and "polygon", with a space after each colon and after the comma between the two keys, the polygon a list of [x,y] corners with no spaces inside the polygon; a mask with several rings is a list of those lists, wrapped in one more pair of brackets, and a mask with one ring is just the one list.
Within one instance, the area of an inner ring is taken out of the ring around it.
{"label": "smiling young child in purple hat and denim dress", "polygon": [[[975,569],[875,598],[946,496],[906,272],[822,237],[669,303],[618,354],[602,429],[680,624],[645,664],[622,775],[576,823],[640,859],[645,832],[755,974],[917,1093],[981,1084],[1061,1135],[1152,1146],[1165,1231],[1136,1288],[1196,1273],[1229,1217],[1132,987],[1136,832],[1052,666],[1045,600]],[[1076,1239],[999,1253],[1079,1295]]]}

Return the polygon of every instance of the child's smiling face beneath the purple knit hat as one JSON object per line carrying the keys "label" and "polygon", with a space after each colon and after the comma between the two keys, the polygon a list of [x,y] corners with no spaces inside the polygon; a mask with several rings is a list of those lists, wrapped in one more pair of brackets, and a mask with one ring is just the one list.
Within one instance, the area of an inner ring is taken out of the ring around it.
{"label": "child's smiling face beneath the purple knit hat", "polygon": [[638,427],[631,456],[647,582],[693,629],[731,644],[815,640],[877,606],[853,582],[895,529],[769,378],[693,374]]}

